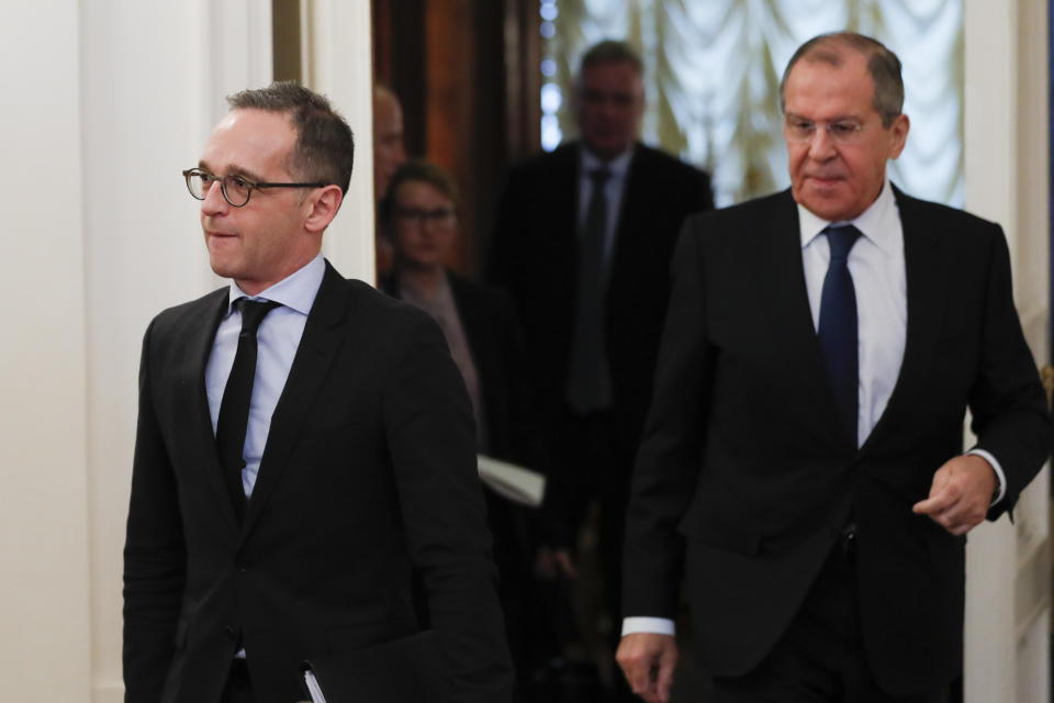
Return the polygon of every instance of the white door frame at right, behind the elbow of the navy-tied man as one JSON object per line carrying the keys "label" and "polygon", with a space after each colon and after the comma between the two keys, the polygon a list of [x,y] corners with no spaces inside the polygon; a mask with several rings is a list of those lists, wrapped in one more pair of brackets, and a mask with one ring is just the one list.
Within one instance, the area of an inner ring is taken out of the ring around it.
{"label": "white door frame at right, behind the elbow of the navy-tied man", "polygon": [[[1046,2],[964,3],[966,208],[1002,224],[1014,298],[1040,362],[1049,355]],[[1047,470],[1006,517],[969,536],[965,700],[1050,698]]]}

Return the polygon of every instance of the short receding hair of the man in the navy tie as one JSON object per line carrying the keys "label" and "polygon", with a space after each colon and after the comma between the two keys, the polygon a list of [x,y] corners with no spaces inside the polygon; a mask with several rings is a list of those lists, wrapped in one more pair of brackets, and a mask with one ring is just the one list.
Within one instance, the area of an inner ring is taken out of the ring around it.
{"label": "short receding hair of the man in the navy tie", "polygon": [[882,116],[882,126],[888,127],[904,110],[904,79],[900,77],[900,59],[886,48],[885,44],[870,36],[856,32],[832,32],[820,34],[798,47],[790,57],[787,68],[780,80],[780,110],[786,111],[784,90],[790,69],[800,59],[829,64],[836,68],[841,66],[845,58],[845,47],[859,52],[867,59],[867,72],[875,83],[873,104],[875,112]]}

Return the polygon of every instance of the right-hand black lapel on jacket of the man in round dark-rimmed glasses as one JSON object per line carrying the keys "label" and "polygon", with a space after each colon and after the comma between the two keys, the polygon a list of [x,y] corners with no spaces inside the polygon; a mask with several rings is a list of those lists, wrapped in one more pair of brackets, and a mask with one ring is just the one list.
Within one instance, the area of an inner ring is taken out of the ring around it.
{"label": "right-hand black lapel on jacket of the man in round dark-rimmed glasses", "polygon": [[289,370],[285,388],[282,389],[271,416],[267,445],[260,458],[260,470],[246,509],[243,539],[259,518],[264,503],[285,468],[309,410],[329,373],[329,367],[340,345],[336,326],[344,319],[345,306],[344,279],[326,261],[325,277],[307,315],[304,335]]}

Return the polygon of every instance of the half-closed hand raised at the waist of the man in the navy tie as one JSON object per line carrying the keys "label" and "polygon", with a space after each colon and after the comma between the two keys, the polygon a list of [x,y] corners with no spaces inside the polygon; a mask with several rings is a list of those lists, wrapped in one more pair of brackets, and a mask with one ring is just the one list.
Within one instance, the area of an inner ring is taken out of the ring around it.
{"label": "half-closed hand raised at the waist of the man in the navy tie", "polygon": [[937,470],[930,496],[911,509],[929,515],[953,535],[965,535],[976,527],[991,504],[996,471],[984,458],[967,454],[955,457]]}

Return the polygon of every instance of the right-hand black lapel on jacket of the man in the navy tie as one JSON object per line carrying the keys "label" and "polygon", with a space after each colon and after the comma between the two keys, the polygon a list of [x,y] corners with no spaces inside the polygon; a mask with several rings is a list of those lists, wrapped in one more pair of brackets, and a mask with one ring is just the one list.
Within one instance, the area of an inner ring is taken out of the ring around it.
{"label": "right-hand black lapel on jacket of the man in the navy tie", "polygon": [[927,216],[920,201],[894,187],[904,230],[904,259],[907,275],[908,328],[900,375],[886,409],[862,450],[893,432],[900,406],[911,402],[913,390],[937,361],[937,341],[946,303],[946,257],[941,255],[943,236]]}

